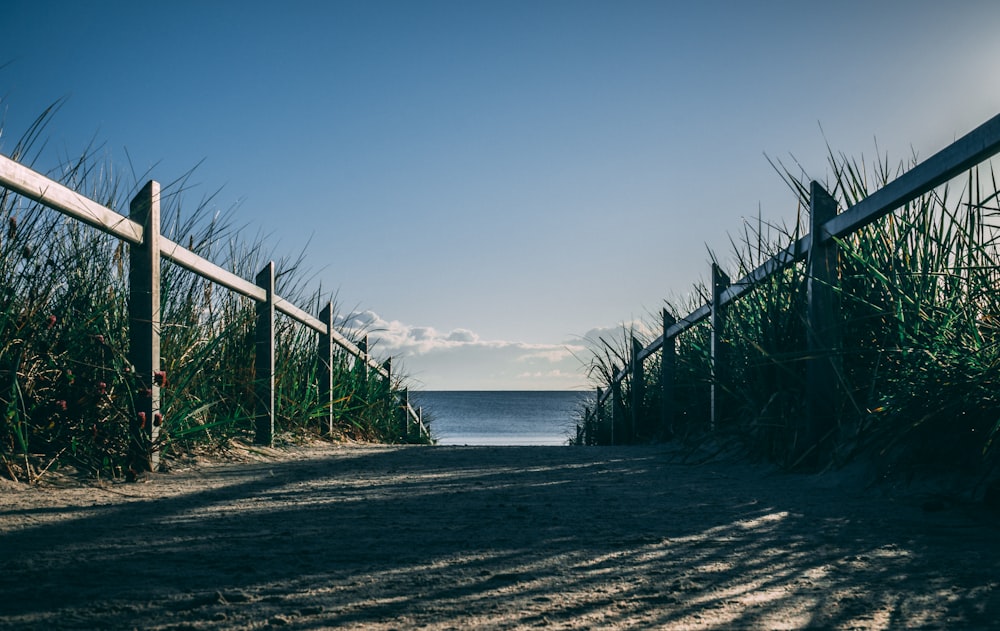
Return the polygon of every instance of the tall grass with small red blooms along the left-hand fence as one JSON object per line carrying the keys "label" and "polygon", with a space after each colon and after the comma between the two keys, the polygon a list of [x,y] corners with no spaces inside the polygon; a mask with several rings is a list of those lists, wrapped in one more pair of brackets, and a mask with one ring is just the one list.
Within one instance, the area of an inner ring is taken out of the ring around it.
{"label": "tall grass with small red blooms along the left-hand fence", "polygon": [[[8,155],[31,163],[31,149],[54,108]],[[129,182],[88,148],[48,174],[112,208],[128,207],[141,182]],[[145,179],[145,178],[143,178]],[[162,189],[163,232],[200,256],[253,278],[271,258],[261,235],[244,237],[234,210],[212,198],[190,209],[187,179]],[[72,465],[123,474],[135,397],[128,352],[128,251],[122,242],[0,189],[0,470],[32,479]],[[318,311],[321,290],[307,287],[299,259],[281,259],[278,293]],[[161,448],[220,447],[253,435],[254,323],[250,299],[163,262]],[[276,336],[277,430],[325,434],[320,416],[317,335],[279,316]],[[342,331],[345,336],[349,332]],[[394,388],[367,378],[346,352],[336,356],[336,435],[373,441],[403,435]],[[399,386],[399,378],[393,386]]]}

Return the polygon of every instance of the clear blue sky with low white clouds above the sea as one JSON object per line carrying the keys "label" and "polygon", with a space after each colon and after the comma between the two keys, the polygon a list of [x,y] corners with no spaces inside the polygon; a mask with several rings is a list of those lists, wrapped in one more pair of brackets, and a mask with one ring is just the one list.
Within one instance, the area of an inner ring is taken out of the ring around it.
{"label": "clear blue sky with low white clouds above the sea", "polygon": [[794,221],[769,157],[823,181],[828,145],[926,158],[1000,112],[992,1],[4,5],[0,153],[65,98],[39,170],[197,167],[427,390],[590,388],[588,339]]}

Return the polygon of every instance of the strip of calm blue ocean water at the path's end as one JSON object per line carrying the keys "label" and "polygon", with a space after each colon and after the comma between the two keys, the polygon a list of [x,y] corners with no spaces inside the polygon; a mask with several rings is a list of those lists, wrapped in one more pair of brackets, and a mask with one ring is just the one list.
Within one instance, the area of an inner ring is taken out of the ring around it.
{"label": "strip of calm blue ocean water at the path's end", "polygon": [[411,392],[440,445],[565,445],[589,392]]}

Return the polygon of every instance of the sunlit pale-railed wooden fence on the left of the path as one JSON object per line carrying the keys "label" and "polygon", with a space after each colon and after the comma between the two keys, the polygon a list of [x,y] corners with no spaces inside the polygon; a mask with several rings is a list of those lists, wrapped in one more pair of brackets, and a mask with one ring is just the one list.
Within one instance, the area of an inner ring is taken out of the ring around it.
{"label": "sunlit pale-railed wooden fence on the left of the path", "polygon": [[[319,334],[320,401],[328,403],[324,419],[329,432],[334,429],[333,370],[335,347],[339,346],[365,370],[385,380],[391,390],[391,360],[378,363],[368,353],[367,337],[355,344],[334,328],[333,303],[328,303],[313,317],[275,293],[275,266],[269,262],[249,282],[208,261],[160,234],[160,185],[150,181],[132,200],[129,216],[101,206],[32,169],[0,155],[0,186],[27,197],[50,209],[88,224],[130,245],[129,251],[129,361],[135,377],[151,394],[136,399],[136,414],[131,428],[132,459],[145,469],[155,469],[159,461],[158,434],[160,410],[160,261],[165,258],[206,280],[251,298],[256,303],[255,331],[256,412],[255,441],[271,444],[275,427],[275,314],[283,313]],[[416,418],[423,436],[429,435],[420,415],[404,396],[400,409],[407,418]],[[148,419],[149,422],[145,422]]]}

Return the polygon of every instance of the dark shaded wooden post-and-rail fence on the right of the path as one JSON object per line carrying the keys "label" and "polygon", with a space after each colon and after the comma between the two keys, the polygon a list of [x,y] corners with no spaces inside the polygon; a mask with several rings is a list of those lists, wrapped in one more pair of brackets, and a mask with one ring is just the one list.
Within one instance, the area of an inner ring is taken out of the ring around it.
{"label": "dark shaded wooden post-and-rail fence on the right of the path", "polygon": [[[645,347],[633,347],[628,365],[614,372],[607,388],[597,389],[596,405],[592,413],[597,415],[598,423],[606,420],[603,418],[602,406],[611,398],[612,430],[610,435],[613,441],[616,431],[614,429],[615,417],[621,415],[619,410],[621,402],[616,399],[621,396],[622,381],[628,377],[636,379],[641,375],[643,362],[657,351],[669,350],[673,353],[675,341],[679,335],[710,318],[714,321],[712,370],[713,376],[717,376],[716,371],[723,366],[722,357],[717,353],[724,352],[723,341],[718,335],[721,322],[717,319],[724,316],[728,305],[745,296],[762,281],[802,261],[809,261],[806,273],[808,283],[806,328],[810,332],[809,343],[812,352],[809,353],[810,358],[807,360],[809,362],[807,396],[809,401],[813,403],[824,400],[825,396],[830,395],[829,389],[832,387],[832,380],[827,378],[829,375],[821,364],[829,363],[824,355],[829,355],[829,351],[837,344],[836,332],[831,330],[833,325],[826,321],[829,319],[827,314],[836,310],[834,294],[835,287],[838,286],[838,270],[836,269],[836,256],[831,256],[831,251],[835,253],[836,239],[841,239],[864,228],[997,153],[1000,153],[1000,115],[994,116],[840,214],[837,214],[836,204],[830,195],[819,183],[812,182],[810,184],[811,224],[809,234],[796,239],[788,247],[736,282],[730,283],[728,279],[721,279],[722,282],[719,282],[720,279],[716,273],[713,273],[712,299],[688,315],[675,319],[664,310],[662,334]],[[713,272],[719,271],[713,266]],[[826,337],[817,339],[814,332],[821,332]],[[659,384],[666,395],[672,387],[673,362],[661,362],[661,371]],[[713,383],[715,381],[717,379],[713,379]],[[662,422],[669,423],[672,418],[669,397],[662,396],[661,401],[665,408],[661,410]],[[716,419],[716,395],[714,391],[711,406],[714,423]],[[816,406],[811,404],[810,407],[815,408]],[[636,423],[635,413],[636,410],[633,407],[633,418],[630,421],[632,429]],[[588,412],[588,414],[590,413]],[[816,409],[813,409],[809,416],[804,428],[805,435],[812,436],[815,442],[816,436],[821,433],[819,427],[827,421],[820,418],[823,414]],[[623,424],[622,419],[618,419],[617,422]],[[809,447],[813,447],[813,445]]]}

